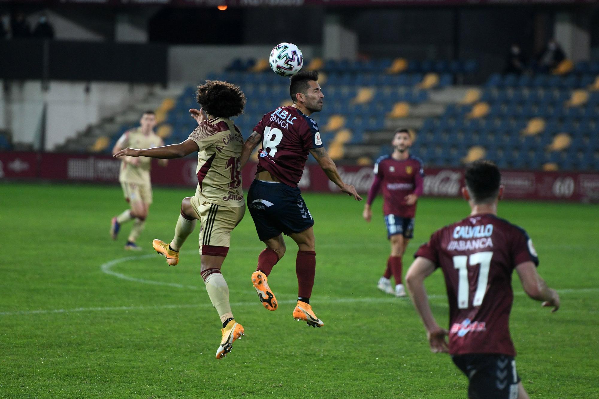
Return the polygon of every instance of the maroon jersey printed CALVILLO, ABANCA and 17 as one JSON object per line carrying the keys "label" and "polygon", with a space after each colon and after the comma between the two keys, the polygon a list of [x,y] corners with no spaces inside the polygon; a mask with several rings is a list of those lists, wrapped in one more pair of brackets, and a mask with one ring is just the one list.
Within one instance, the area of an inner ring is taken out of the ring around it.
{"label": "maroon jersey printed CALVILLO, ABANCA and 17", "polygon": [[510,338],[512,272],[539,264],[520,227],[495,215],[476,215],[433,233],[415,257],[443,270],[449,300],[449,353],[515,356]]}

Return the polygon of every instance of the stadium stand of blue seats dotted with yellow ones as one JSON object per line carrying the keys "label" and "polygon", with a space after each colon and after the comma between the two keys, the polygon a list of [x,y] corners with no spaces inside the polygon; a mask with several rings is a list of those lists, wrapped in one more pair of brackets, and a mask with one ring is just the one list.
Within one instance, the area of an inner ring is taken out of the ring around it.
{"label": "stadium stand of blue seats dotted with yellow ones", "polygon": [[[418,132],[413,154],[429,166],[459,166],[487,157],[504,169],[589,170],[599,167],[599,63],[580,62],[565,75],[491,75],[479,87],[454,86],[477,71],[474,61],[384,59],[305,62],[319,68],[326,105],[315,115],[331,157],[368,165],[391,151],[397,127]],[[235,122],[244,136],[265,112],[291,104],[288,80],[264,60],[237,59],[208,79],[238,84],[246,110]],[[166,144],[194,127],[187,110],[195,88],[157,109]],[[90,150],[110,151],[126,124]],[[100,139],[98,139],[100,140]]]}

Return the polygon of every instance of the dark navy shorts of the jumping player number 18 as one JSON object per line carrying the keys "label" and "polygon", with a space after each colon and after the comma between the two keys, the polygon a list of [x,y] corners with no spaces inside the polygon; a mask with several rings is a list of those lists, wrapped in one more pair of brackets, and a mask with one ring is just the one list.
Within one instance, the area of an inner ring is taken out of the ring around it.
{"label": "dark navy shorts of the jumping player number 18", "polygon": [[247,208],[262,241],[314,226],[299,188],[284,183],[254,180],[247,192]]}

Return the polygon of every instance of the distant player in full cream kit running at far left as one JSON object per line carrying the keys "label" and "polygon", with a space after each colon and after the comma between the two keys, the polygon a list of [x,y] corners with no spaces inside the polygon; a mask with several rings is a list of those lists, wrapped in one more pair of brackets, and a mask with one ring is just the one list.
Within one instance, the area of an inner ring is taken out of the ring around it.
{"label": "distant player in full cream kit running at far left", "polygon": [[[164,145],[162,138],[154,133],[156,126],[156,115],[154,111],[146,111],[141,115],[140,127],[123,133],[113,148],[113,154],[126,147],[152,148]],[[167,160],[161,159],[159,165],[167,166]],[[125,249],[139,251],[135,241],[143,231],[150,204],[152,203],[152,182],[150,181],[150,169],[152,159],[148,157],[122,157],[119,172],[119,182],[123,187],[125,200],[129,202],[130,209],[126,209],[120,215],[112,218],[110,234],[114,240],[117,239],[121,224],[135,220],[131,233],[127,238]]]}

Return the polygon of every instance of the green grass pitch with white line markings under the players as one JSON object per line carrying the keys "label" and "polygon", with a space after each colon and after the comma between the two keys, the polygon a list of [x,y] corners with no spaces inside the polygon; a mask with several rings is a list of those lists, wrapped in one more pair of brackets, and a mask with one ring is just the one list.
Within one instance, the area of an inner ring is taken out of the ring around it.
{"label": "green grass pitch with white line markings under the players", "polygon": [[[376,282],[389,254],[380,197],[371,224],[362,203],[306,194],[316,220],[312,304],[320,329],[296,322],[295,253],[270,276],[279,309],[268,312],[250,282],[262,243],[249,213],[223,265],[246,337],[214,358],[220,322],[199,276],[197,236],[177,267],[151,251],[170,240],[187,190],[155,188],[143,251],[114,242],[110,218],[126,203],[116,186],[0,184],[0,397],[398,397],[463,398],[467,380],[447,355],[431,354],[409,299]],[[419,243],[468,213],[457,199],[423,198],[404,274]],[[561,294],[557,313],[528,299],[515,275],[510,327],[517,367],[535,398],[599,397],[599,209],[502,202],[500,216],[533,238],[539,271]],[[443,276],[427,282],[447,325]]]}

